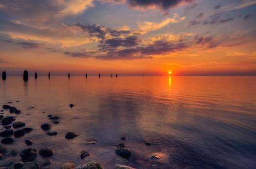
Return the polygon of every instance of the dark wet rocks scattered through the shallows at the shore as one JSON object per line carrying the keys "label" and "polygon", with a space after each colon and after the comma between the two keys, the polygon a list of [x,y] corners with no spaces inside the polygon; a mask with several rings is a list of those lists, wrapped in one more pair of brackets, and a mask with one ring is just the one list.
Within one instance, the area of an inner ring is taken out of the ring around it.
{"label": "dark wet rocks scattered through the shallows at the shore", "polygon": [[[17,102],[19,102],[17,100]],[[9,102],[10,104],[11,102]],[[70,108],[72,108],[74,105],[70,104]],[[34,107],[31,106],[28,109],[33,109]],[[0,163],[0,169],[48,169],[50,165],[53,163],[53,161],[47,159],[43,163],[39,163],[37,161],[37,156],[40,155],[41,157],[51,157],[54,155],[55,151],[48,147],[40,148],[39,151],[36,148],[33,147],[33,142],[36,140],[29,140],[26,139],[24,143],[29,146],[29,148],[22,150],[20,153],[17,150],[9,150],[8,145],[9,144],[15,144],[15,139],[18,139],[19,137],[25,137],[26,133],[33,132],[33,128],[27,127],[26,124],[22,121],[18,121],[19,117],[11,115],[11,114],[20,114],[22,113],[21,110],[18,110],[16,107],[12,107],[10,105],[3,105],[2,109],[0,110],[0,125],[5,130],[1,129],[0,137],[1,137],[1,144],[0,144],[0,161],[5,158],[5,156],[12,157],[20,155],[21,160],[18,162],[9,162],[6,164]],[[5,115],[5,113],[9,110],[9,115]],[[45,113],[45,112],[43,112]],[[49,120],[52,120],[54,124],[60,123],[60,117],[53,116],[52,114],[47,115]],[[46,134],[48,136],[54,136],[57,135],[57,131],[51,131],[51,125],[49,123],[44,123],[41,126],[42,131],[47,131]],[[13,128],[13,129],[12,129]],[[42,132],[43,134],[44,132]],[[67,131],[65,136],[63,136],[63,139],[75,139],[75,137],[78,137],[79,135],[72,132]],[[116,147],[116,150],[114,151],[118,156],[121,158],[124,158],[126,160],[129,159],[129,157],[132,154],[132,151],[128,148],[126,148],[124,141],[126,140],[125,137],[120,138],[121,142],[117,145],[114,145]],[[96,144],[96,141],[90,141],[86,142],[85,145],[94,145]],[[150,142],[145,142],[145,145],[150,146]],[[80,157],[84,159],[91,154],[87,152],[86,150],[82,150],[80,153]],[[104,169],[104,167],[99,164],[98,162],[89,162],[84,165],[78,165],[76,166],[74,163],[65,163],[62,166],[62,169]],[[130,166],[120,165],[116,164],[115,169],[134,169]]]}

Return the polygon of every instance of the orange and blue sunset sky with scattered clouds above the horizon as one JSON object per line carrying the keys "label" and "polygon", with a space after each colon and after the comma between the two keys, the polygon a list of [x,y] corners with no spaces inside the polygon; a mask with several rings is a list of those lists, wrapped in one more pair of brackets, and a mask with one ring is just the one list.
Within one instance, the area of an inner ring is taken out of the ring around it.
{"label": "orange and blue sunset sky with scattered clouds above the horizon", "polygon": [[256,75],[256,0],[0,0],[7,75]]}

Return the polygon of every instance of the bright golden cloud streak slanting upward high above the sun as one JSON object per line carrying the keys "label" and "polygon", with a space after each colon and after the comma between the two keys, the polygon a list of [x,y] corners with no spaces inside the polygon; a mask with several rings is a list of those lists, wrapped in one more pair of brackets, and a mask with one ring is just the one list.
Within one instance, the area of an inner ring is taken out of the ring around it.
{"label": "bright golden cloud streak slanting upward high above the sun", "polygon": [[138,24],[138,28],[142,33],[147,33],[155,30],[159,30],[162,27],[168,25],[169,23],[178,23],[182,20],[186,19],[186,17],[179,17],[178,14],[174,14],[173,18],[167,18],[162,20],[161,22],[142,22]]}

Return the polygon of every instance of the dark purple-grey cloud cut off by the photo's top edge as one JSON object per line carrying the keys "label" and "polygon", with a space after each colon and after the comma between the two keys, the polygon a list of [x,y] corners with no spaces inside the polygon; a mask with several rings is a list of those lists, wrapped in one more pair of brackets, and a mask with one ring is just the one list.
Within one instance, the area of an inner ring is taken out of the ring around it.
{"label": "dark purple-grey cloud cut off by the photo's top edge", "polygon": [[181,3],[190,3],[193,0],[128,0],[131,7],[147,8],[150,6],[157,6],[161,9],[169,9]]}

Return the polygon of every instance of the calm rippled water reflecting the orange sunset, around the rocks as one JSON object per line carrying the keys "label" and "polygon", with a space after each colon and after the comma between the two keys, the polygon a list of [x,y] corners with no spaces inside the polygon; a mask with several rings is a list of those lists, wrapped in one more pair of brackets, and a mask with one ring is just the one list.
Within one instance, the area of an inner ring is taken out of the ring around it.
{"label": "calm rippled water reflecting the orange sunset, around the rocks", "polygon": [[[13,102],[22,111],[17,121],[34,128],[6,147],[21,151],[28,147],[25,139],[32,139],[37,150],[49,146],[55,150],[49,158],[52,169],[89,161],[106,169],[115,164],[139,169],[256,168],[256,77],[39,76],[26,83],[8,77],[0,81],[0,96],[1,106]],[[30,106],[35,108],[28,110]],[[59,116],[60,123],[53,124],[48,114]],[[41,130],[46,122],[57,136]],[[67,131],[79,136],[67,140]],[[132,151],[129,160],[114,152],[122,136]],[[92,140],[97,143],[84,144]],[[81,150],[91,155],[81,160]],[[161,158],[151,159],[152,153]],[[39,155],[37,160],[44,161]],[[4,156],[0,164],[18,161],[19,155]]]}

